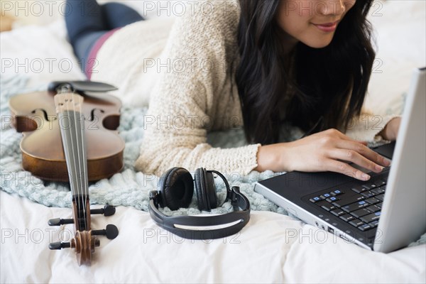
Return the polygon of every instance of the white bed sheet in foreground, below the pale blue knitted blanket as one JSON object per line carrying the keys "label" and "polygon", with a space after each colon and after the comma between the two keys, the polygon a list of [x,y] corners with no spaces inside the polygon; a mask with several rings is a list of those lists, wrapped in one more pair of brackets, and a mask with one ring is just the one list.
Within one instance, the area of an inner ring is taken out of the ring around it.
{"label": "white bed sheet in foreground, below the pale blue knitted blanket", "polygon": [[[252,212],[240,234],[191,241],[159,229],[149,214],[117,207],[95,215],[92,227],[119,227],[101,239],[92,266],[77,266],[70,249],[49,251],[70,238],[67,208],[49,208],[0,192],[1,283],[424,283],[426,246],[376,253],[292,217]],[[53,231],[48,231],[53,229]],[[65,233],[62,233],[65,231]]]}

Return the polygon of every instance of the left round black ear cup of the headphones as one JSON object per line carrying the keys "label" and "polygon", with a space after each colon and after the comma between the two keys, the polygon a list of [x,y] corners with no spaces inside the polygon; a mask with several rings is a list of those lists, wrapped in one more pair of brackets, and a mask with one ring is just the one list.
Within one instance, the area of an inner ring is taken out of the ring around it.
{"label": "left round black ear cup of the headphones", "polygon": [[161,177],[160,192],[163,207],[188,207],[194,194],[192,175],[184,168],[171,168]]}

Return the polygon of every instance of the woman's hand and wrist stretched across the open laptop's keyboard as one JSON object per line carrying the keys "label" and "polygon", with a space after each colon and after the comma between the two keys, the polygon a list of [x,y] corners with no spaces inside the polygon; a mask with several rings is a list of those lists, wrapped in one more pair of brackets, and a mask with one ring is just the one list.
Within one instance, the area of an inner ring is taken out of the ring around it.
{"label": "woman's hand and wrist stretched across the open laptop's keyboard", "polygon": [[357,170],[348,162],[360,165],[375,173],[389,160],[336,129],[315,133],[297,141],[261,146],[256,170],[321,172],[332,171],[349,175],[358,180],[368,180],[369,175]]}

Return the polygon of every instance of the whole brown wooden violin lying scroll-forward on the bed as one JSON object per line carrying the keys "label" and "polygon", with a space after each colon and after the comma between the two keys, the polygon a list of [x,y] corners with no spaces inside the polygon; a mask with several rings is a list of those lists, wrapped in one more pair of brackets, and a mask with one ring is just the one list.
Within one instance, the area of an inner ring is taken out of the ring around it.
{"label": "whole brown wooden violin lying scroll-forward on the bed", "polygon": [[[92,253],[100,244],[97,236],[115,239],[119,234],[112,224],[101,230],[91,229],[90,224],[91,214],[111,216],[116,209],[105,205],[102,209],[90,210],[89,180],[109,177],[123,166],[124,141],[116,133],[105,130],[118,126],[118,99],[90,94],[106,89],[114,87],[94,82],[53,82],[48,92],[23,94],[9,101],[16,129],[28,131],[23,133],[21,141],[23,167],[40,178],[60,181],[66,178],[70,182],[73,219],[50,219],[48,224],[74,224],[75,237],[70,242],[52,243],[49,248],[75,249],[79,265],[92,263]],[[55,116],[52,110],[55,110]],[[38,113],[42,114],[40,120],[35,117]],[[105,117],[95,119],[95,114]],[[89,131],[86,121],[102,121],[103,127],[99,125],[99,131]],[[51,123],[46,126],[43,125],[45,122]],[[114,166],[120,161],[121,164]]]}

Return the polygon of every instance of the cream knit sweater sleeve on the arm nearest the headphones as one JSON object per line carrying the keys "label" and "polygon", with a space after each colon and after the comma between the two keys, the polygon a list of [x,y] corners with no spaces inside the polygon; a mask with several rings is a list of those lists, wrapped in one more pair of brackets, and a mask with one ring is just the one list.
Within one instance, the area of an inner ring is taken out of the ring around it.
{"label": "cream knit sweater sleeve on the arm nearest the headphones", "polygon": [[207,131],[223,129],[215,127],[215,120],[229,111],[229,105],[218,106],[239,104],[226,87],[230,72],[224,69],[238,16],[222,9],[200,11],[178,18],[157,62],[160,79],[143,118],[137,170],[161,175],[175,166],[190,171],[204,167],[246,175],[257,166],[260,145],[223,149],[207,143]]}

